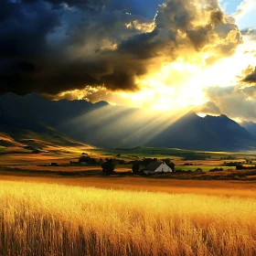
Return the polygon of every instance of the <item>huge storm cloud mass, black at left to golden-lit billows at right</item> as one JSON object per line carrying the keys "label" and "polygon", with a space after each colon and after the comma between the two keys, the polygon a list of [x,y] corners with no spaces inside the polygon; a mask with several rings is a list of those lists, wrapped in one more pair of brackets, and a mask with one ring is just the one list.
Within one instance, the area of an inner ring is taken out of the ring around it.
{"label": "huge storm cloud mass, black at left to golden-lit billows at right", "polygon": [[0,93],[139,91],[140,81],[163,64],[212,65],[242,43],[216,0],[157,4],[0,0]]}

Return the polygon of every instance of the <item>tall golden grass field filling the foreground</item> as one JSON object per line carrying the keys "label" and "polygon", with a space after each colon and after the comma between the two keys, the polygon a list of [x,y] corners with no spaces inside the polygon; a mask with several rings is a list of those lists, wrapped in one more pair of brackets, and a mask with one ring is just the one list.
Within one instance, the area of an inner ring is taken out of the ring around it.
{"label": "tall golden grass field filling the foreground", "polygon": [[0,255],[256,254],[252,198],[0,187]]}

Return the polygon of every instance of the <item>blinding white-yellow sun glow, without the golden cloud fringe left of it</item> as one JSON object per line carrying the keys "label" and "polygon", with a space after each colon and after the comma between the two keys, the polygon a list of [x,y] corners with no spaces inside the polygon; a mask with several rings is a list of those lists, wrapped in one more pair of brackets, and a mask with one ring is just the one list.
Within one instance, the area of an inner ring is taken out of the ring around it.
{"label": "blinding white-yellow sun glow, without the golden cloud fringe left of it", "polygon": [[208,101],[204,90],[209,86],[227,87],[240,83],[238,75],[255,61],[252,54],[245,53],[245,49],[252,48],[252,42],[245,40],[233,56],[220,59],[212,66],[190,64],[183,59],[165,63],[160,70],[137,80],[141,91],[121,92],[120,95],[132,99],[133,106],[152,110],[175,112],[197,107]]}

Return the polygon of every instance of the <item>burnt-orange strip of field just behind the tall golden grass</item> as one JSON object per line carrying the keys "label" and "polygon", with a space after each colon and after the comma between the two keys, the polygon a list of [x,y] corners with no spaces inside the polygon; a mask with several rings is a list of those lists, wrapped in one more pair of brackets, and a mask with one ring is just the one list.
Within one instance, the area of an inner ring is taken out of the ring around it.
{"label": "burnt-orange strip of field just behind the tall golden grass", "polygon": [[169,194],[187,193],[208,196],[256,198],[255,181],[158,179],[141,176],[59,176],[45,172],[36,174],[9,172],[8,169],[0,169],[0,179],[34,183],[55,183],[73,187],[98,187],[130,191],[164,192]]}

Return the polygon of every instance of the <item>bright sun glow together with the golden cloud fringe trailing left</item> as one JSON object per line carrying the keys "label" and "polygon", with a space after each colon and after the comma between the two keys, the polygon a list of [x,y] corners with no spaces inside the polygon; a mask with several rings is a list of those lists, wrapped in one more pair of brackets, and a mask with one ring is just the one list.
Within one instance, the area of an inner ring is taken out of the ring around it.
{"label": "bright sun glow together with the golden cloud fringe trailing left", "polygon": [[249,65],[255,66],[253,41],[250,37],[244,37],[243,40],[243,44],[233,56],[219,59],[211,66],[206,63],[208,53],[204,53],[199,62],[188,62],[182,58],[170,63],[164,60],[155,62],[146,76],[137,77],[135,82],[139,91],[108,91],[101,86],[86,87],[83,91],[62,92],[57,100],[88,99],[95,102],[101,98],[112,105],[126,105],[151,111],[191,110],[210,101],[205,92],[208,87],[240,85],[242,70],[247,69]]}

